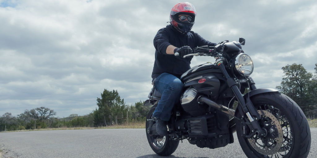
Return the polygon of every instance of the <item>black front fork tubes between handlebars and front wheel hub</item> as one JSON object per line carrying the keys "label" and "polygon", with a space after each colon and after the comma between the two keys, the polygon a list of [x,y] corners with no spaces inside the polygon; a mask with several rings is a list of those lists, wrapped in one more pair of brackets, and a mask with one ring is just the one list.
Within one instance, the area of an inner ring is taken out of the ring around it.
{"label": "black front fork tubes between handlebars and front wheel hub", "polygon": [[[223,75],[227,80],[228,86],[231,88],[233,94],[236,96],[236,99],[240,104],[240,106],[238,106],[238,111],[240,115],[242,116],[242,119],[246,120],[250,124],[249,127],[251,130],[251,133],[250,135],[246,137],[250,138],[250,137],[253,137],[254,135],[265,136],[267,134],[266,131],[263,130],[258,123],[258,120],[261,119],[261,116],[256,111],[249,97],[246,97],[246,100],[244,100],[243,95],[241,94],[237,86],[237,84],[239,83],[238,80],[234,77],[230,77],[223,62],[225,62],[224,58],[216,59],[216,63],[219,66],[220,70],[223,72]],[[252,80],[252,78],[250,77],[249,79]],[[252,83],[253,80],[250,82]],[[253,84],[251,84],[251,88],[256,89],[254,82]]]}

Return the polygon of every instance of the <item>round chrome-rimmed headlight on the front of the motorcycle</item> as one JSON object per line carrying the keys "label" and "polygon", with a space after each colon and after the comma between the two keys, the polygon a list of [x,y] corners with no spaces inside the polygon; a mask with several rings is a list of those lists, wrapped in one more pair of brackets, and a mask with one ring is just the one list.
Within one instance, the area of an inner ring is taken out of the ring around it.
{"label": "round chrome-rimmed headlight on the front of the motorcycle", "polygon": [[253,62],[249,55],[241,53],[236,57],[236,70],[243,75],[251,75],[253,72]]}

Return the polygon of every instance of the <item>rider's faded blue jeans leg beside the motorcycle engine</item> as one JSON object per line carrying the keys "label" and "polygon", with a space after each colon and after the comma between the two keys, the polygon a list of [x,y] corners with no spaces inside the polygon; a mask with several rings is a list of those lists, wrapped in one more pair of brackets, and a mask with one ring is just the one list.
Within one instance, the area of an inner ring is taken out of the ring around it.
{"label": "rider's faded blue jeans leg beside the motorcycle engine", "polygon": [[174,75],[163,73],[156,77],[154,85],[155,89],[162,94],[162,97],[153,116],[168,121],[171,118],[173,106],[179,101],[183,82]]}

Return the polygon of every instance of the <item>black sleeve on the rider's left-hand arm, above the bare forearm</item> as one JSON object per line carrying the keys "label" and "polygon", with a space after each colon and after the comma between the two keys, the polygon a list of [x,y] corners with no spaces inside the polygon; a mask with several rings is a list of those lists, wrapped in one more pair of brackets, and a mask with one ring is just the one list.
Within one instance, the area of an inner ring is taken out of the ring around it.
{"label": "black sleeve on the rider's left-hand arm, above the bare forearm", "polygon": [[169,33],[165,28],[161,28],[158,33],[156,33],[153,44],[159,53],[166,54],[167,46],[171,44],[169,42]]}

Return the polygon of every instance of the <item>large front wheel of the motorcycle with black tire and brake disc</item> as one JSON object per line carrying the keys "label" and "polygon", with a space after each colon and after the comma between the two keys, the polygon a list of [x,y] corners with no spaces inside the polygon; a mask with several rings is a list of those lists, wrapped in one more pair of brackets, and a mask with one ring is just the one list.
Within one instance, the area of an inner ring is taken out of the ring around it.
{"label": "large front wheel of the motorcycle with black tire and brake disc", "polygon": [[301,108],[281,93],[258,94],[250,99],[261,116],[258,122],[267,135],[246,138],[244,136],[251,133],[248,125],[237,121],[237,137],[244,153],[249,158],[306,158],[311,135]]}

